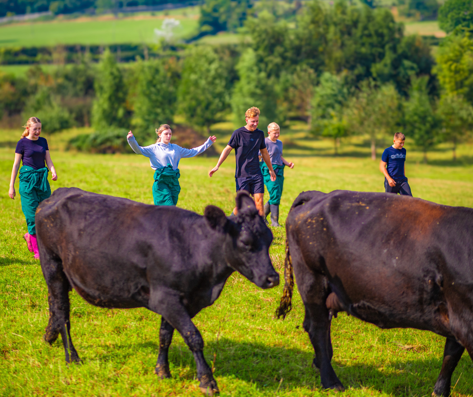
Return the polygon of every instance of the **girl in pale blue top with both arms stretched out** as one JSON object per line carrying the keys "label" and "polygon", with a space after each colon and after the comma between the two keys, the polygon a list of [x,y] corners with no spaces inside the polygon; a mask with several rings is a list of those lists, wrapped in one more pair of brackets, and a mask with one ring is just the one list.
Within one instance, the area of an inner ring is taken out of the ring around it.
{"label": "girl in pale blue top with both arms stretched out", "polygon": [[152,187],[153,202],[155,206],[177,205],[181,186],[179,184],[179,160],[186,157],[197,156],[206,151],[216,141],[214,136],[198,148],[186,149],[172,144],[172,131],[168,124],[162,124],[156,129],[156,143],[141,147],[136,142],[131,131],[126,136],[128,144],[136,154],[149,158],[151,168],[154,170],[154,183]]}

